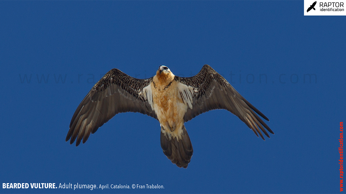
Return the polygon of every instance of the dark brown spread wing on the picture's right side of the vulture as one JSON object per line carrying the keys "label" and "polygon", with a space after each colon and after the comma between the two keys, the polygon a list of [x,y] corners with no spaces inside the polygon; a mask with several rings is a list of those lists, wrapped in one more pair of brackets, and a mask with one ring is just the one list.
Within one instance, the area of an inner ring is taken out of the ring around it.
{"label": "dark brown spread wing on the picture's right side of the vulture", "polygon": [[185,122],[210,110],[226,109],[238,116],[257,136],[259,133],[263,140],[261,131],[267,137],[270,136],[265,129],[274,134],[257,114],[267,121],[269,119],[245,100],[225,78],[209,65],[204,65],[202,70],[193,77],[175,76],[175,80],[181,83],[180,95],[184,103],[186,102],[188,105],[188,110],[184,115]]}

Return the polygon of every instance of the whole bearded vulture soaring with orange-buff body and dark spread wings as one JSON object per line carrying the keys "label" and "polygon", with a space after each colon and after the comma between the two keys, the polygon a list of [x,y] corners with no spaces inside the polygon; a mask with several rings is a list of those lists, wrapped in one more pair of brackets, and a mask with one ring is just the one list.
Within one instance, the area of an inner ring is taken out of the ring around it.
{"label": "whole bearded vulture soaring with orange-buff body and dark spread wings", "polygon": [[136,79],[118,69],[106,73],[74,112],[66,141],[71,139],[72,144],[77,139],[78,146],[114,115],[140,112],[160,122],[163,153],[172,163],[186,168],[193,149],[184,122],[215,109],[235,114],[263,140],[262,132],[269,137],[265,129],[274,134],[258,115],[269,119],[209,65],[190,78],[175,76],[161,65],[149,79]]}

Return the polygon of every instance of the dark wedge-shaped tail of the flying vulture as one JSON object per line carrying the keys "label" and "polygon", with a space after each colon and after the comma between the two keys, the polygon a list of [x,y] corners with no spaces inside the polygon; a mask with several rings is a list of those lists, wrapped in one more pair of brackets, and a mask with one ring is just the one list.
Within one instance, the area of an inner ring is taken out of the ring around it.
{"label": "dark wedge-shaped tail of the flying vulture", "polygon": [[186,169],[191,161],[193,148],[184,125],[182,130],[183,136],[179,141],[176,137],[172,137],[171,140],[169,140],[169,137],[161,131],[161,147],[163,153],[172,161],[172,163],[176,164],[178,167]]}

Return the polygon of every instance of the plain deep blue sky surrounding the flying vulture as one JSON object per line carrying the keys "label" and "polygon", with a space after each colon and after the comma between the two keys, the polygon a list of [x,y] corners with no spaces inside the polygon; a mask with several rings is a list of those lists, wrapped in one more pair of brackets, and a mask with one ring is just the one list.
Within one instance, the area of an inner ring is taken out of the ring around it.
{"label": "plain deep blue sky surrounding the flying vulture", "polygon": [[[303,16],[303,1],[1,1],[1,184],[164,189],[0,193],[338,193],[345,24]],[[185,123],[187,169],[167,159],[159,122],[140,113],[116,115],[78,147],[65,142],[110,69],[143,79],[160,65],[191,76],[204,64],[270,119],[271,139],[214,110]]]}

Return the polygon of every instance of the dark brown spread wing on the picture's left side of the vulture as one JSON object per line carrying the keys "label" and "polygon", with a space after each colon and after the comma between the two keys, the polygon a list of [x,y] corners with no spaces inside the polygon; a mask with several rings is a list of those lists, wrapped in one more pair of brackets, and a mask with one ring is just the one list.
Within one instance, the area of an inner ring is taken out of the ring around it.
{"label": "dark brown spread wing on the picture's left side of the vulture", "polygon": [[75,139],[78,146],[90,133],[121,112],[140,112],[157,119],[153,111],[150,83],[153,78],[136,79],[112,69],[98,81],[79,104],[72,116],[66,141]]}

